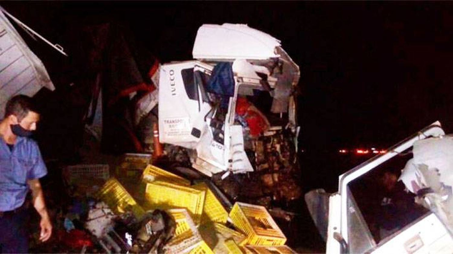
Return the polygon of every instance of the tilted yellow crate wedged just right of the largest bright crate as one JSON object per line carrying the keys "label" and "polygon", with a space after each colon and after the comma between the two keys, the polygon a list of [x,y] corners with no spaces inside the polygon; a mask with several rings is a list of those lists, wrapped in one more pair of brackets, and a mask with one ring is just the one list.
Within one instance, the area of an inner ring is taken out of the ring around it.
{"label": "tilted yellow crate wedged just right of the largest bright crate", "polygon": [[219,222],[225,224],[226,219],[228,218],[228,212],[226,212],[222,203],[220,203],[214,193],[212,193],[212,190],[209,189],[205,183],[193,185],[193,188],[206,191],[200,224],[206,222]]}

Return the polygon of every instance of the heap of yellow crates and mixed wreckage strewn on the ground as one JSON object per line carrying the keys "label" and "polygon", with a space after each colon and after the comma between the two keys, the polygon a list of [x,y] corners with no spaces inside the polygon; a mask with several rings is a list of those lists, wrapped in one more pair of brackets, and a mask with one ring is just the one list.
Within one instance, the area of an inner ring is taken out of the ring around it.
{"label": "heap of yellow crates and mixed wreckage strewn on the ground", "polygon": [[[87,175],[81,177],[89,181]],[[144,192],[128,192],[112,177],[101,177],[103,184],[94,194],[72,192],[72,202],[61,210],[63,222],[55,225],[59,245],[53,252],[250,253],[250,248],[262,246],[290,250],[263,206],[236,202],[231,209],[209,181],[192,184],[151,164],[141,179]],[[77,186],[84,180],[68,184]]]}

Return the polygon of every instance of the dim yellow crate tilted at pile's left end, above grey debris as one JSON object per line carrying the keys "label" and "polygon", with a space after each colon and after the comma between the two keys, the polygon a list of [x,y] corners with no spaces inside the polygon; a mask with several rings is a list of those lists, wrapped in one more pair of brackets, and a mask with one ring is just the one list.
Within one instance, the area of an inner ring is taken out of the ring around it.
{"label": "dim yellow crate tilted at pile's left end, above grey debris", "polygon": [[141,218],[145,214],[143,208],[135,202],[134,198],[115,178],[107,180],[98,191],[97,197],[104,201],[113,212],[124,213],[130,211],[137,218]]}

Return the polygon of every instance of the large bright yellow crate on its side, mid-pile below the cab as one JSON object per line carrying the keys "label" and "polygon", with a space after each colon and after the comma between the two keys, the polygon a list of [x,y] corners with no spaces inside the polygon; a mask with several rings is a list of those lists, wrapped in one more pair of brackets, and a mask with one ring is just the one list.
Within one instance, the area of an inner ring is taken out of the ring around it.
{"label": "large bright yellow crate on its side, mid-pile below the cab", "polygon": [[196,224],[203,211],[205,191],[174,183],[154,181],[146,184],[146,209],[186,208]]}

